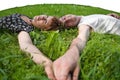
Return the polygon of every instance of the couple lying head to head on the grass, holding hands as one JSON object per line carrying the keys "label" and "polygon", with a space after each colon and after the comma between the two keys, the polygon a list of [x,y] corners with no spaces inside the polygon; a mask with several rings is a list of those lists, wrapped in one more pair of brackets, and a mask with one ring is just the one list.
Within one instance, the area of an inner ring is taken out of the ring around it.
{"label": "couple lying head to head on the grass, holding hands", "polygon": [[[88,16],[65,15],[61,18],[38,15],[33,19],[21,14],[12,14],[0,19],[0,28],[6,28],[18,33],[20,49],[29,53],[36,64],[42,64],[50,80],[78,80],[80,71],[79,56],[89,38],[91,29],[99,33],[120,35],[120,16],[93,14]],[[51,61],[33,43],[29,32],[34,27],[42,30],[57,30],[64,28],[78,28],[78,36],[71,42],[66,53]]]}

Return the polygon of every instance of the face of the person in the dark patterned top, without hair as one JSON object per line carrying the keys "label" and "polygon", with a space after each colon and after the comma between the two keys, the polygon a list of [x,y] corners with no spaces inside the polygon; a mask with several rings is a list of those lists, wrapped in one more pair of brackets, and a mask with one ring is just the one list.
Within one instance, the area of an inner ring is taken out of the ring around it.
{"label": "face of the person in the dark patterned top, without hair", "polygon": [[32,20],[32,24],[39,29],[48,30],[51,28],[50,25],[53,18],[54,17],[47,15],[35,16]]}

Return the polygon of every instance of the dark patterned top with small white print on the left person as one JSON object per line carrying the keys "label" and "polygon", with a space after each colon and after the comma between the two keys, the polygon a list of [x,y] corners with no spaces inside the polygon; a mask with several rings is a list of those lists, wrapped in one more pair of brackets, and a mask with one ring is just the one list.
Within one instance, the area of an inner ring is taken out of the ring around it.
{"label": "dark patterned top with small white print on the left person", "polygon": [[17,33],[20,31],[32,31],[33,26],[26,23],[20,16],[22,15],[16,13],[0,18],[0,29],[9,29],[10,31]]}

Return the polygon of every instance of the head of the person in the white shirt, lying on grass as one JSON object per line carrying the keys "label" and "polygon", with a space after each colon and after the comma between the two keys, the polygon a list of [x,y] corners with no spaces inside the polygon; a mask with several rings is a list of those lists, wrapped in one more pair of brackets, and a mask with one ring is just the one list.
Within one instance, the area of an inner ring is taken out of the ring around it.
{"label": "head of the person in the white shirt, lying on grass", "polygon": [[73,28],[78,25],[80,19],[76,15],[68,14],[62,16],[59,20],[63,24],[64,28]]}

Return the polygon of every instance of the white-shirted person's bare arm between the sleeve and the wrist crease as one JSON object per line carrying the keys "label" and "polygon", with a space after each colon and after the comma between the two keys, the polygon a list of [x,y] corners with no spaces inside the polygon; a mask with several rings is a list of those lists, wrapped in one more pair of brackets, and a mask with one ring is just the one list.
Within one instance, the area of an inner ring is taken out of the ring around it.
{"label": "white-shirted person's bare arm between the sleeve and the wrist crease", "polygon": [[89,38],[90,27],[86,25],[81,25],[78,30],[78,36],[72,41],[70,49],[75,47],[78,51],[82,51]]}

